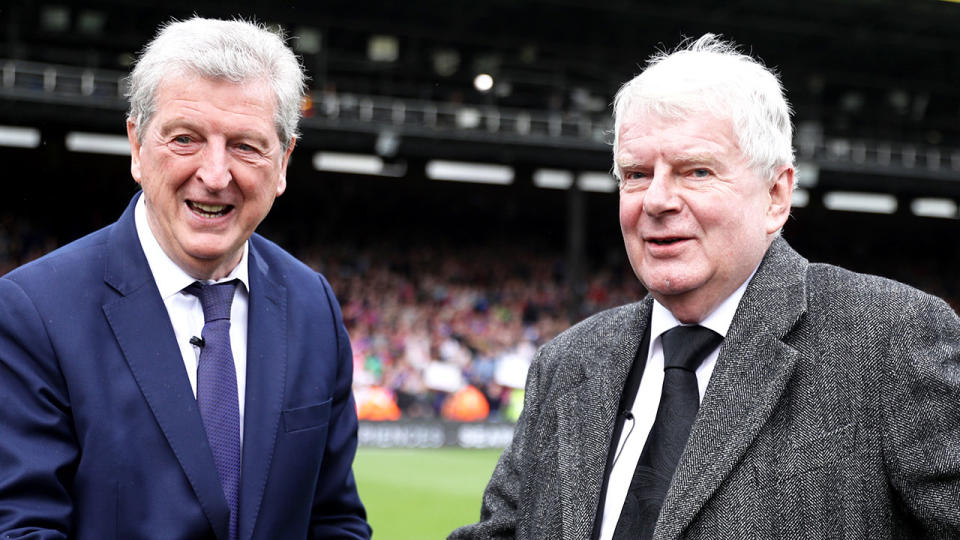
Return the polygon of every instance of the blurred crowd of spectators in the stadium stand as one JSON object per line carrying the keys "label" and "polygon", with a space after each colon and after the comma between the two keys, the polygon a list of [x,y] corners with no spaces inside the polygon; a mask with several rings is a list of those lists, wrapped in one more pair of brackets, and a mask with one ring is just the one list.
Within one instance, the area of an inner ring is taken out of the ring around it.
{"label": "blurred crowd of spectators in the stadium stand", "polygon": [[[56,245],[30,220],[0,215],[0,275]],[[446,416],[457,409],[451,398],[467,388],[471,399],[483,396],[485,417],[515,419],[540,345],[592,313],[644,294],[625,260],[587,265],[583,283],[571,288],[562,252],[520,243],[341,242],[299,251],[340,300],[358,401],[386,400],[393,410],[383,418]],[[950,278],[949,261],[892,253],[844,257],[826,259],[918,286],[960,311],[960,281]]]}

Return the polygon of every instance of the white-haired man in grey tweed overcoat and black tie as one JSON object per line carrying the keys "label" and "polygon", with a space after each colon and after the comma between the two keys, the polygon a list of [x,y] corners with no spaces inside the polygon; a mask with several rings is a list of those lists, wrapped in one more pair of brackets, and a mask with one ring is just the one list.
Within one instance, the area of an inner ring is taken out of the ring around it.
{"label": "white-haired man in grey tweed overcoat and black tie", "polygon": [[[450,538],[960,538],[960,320],[779,237],[794,165],[776,76],[708,34],[652,58],[614,109],[650,294],[542,348],[480,521]],[[630,529],[678,325],[719,344],[659,507]]]}

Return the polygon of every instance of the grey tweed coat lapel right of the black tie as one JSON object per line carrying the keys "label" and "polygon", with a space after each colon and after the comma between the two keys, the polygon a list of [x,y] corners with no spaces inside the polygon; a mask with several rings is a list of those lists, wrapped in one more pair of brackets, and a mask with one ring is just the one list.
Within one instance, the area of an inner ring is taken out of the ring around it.
{"label": "grey tweed coat lapel right of the black tie", "polygon": [[750,446],[793,374],[782,340],[806,311],[807,262],[777,239],[747,288],[667,493],[657,538],[677,538]]}

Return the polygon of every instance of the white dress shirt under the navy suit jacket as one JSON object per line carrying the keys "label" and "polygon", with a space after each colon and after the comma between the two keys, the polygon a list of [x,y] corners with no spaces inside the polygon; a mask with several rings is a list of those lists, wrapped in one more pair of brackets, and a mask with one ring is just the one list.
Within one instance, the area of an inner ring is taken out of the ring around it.
{"label": "white dress shirt under the navy suit jacket", "polygon": [[[147,257],[153,280],[160,290],[160,297],[167,307],[167,315],[173,324],[173,332],[177,337],[180,355],[183,356],[183,365],[190,379],[193,397],[197,397],[197,365],[200,359],[200,348],[190,344],[190,338],[197,336],[203,330],[203,306],[196,296],[184,292],[184,288],[198,281],[184,272],[177,263],[173,262],[160,247],[160,243],[153,235],[147,222],[147,206],[143,195],[137,201],[134,209],[134,222],[137,225],[137,236],[140,246]],[[243,256],[240,264],[227,277],[205,283],[222,283],[231,279],[240,280],[233,293],[233,302],[230,306],[230,348],[233,351],[233,362],[237,369],[237,392],[240,405],[240,441],[243,444],[243,396],[247,387],[247,307],[249,305],[250,279],[247,272],[248,246],[243,246]]]}

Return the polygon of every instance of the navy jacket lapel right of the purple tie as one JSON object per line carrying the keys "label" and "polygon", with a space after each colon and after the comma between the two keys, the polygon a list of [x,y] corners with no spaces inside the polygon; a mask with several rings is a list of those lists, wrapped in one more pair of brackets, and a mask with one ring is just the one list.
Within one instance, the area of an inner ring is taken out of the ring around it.
{"label": "navy jacket lapel right of the purple tie", "polygon": [[250,242],[250,311],[239,537],[253,535],[283,406],[287,368],[287,290]]}

